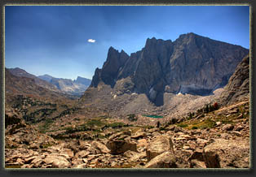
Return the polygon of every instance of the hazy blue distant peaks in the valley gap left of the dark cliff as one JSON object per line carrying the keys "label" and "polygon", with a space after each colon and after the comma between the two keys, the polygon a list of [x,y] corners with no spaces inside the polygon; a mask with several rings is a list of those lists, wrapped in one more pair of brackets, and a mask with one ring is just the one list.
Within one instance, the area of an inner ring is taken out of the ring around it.
{"label": "hazy blue distant peaks in the valley gap left of the dark cliff", "polygon": [[91,81],[80,76],[77,76],[77,80],[55,78],[49,75],[38,76],[38,78],[55,85],[61,92],[76,96],[81,96],[86,91],[86,88],[89,87]]}

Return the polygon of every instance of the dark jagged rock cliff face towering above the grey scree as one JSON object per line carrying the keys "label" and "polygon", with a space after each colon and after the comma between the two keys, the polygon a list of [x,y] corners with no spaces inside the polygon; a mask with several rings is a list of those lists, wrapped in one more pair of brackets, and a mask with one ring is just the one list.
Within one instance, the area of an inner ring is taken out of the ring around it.
{"label": "dark jagged rock cliff face towering above the grey scree", "polygon": [[223,87],[248,53],[241,46],[192,32],[180,35],[176,41],[153,37],[130,56],[111,47],[102,69],[96,69],[90,88],[102,82],[110,85],[114,94],[144,93],[161,106],[164,93],[208,95]]}

